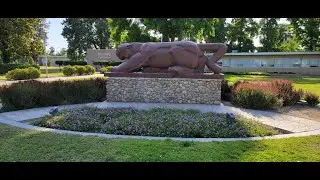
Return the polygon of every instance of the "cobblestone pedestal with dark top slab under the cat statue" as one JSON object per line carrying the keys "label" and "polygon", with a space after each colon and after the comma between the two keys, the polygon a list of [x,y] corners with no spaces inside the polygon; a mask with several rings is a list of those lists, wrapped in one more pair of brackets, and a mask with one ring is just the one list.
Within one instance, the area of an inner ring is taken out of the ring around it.
{"label": "cobblestone pedestal with dark top slab under the cat statue", "polygon": [[105,73],[107,101],[220,104],[223,74]]}

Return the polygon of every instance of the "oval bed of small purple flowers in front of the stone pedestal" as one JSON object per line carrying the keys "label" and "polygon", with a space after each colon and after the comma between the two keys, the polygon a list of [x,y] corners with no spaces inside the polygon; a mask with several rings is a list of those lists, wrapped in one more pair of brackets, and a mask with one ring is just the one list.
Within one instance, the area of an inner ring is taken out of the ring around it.
{"label": "oval bed of small purple flowers in front of the stone pedestal", "polygon": [[272,127],[241,116],[231,119],[222,113],[161,108],[63,109],[55,115],[48,115],[31,123],[71,131],[161,137],[237,138],[280,133]]}

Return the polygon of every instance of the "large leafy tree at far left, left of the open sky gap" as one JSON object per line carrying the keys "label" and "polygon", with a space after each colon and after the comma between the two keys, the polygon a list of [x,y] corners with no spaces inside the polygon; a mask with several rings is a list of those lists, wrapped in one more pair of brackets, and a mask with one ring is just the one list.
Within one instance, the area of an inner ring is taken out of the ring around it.
{"label": "large leafy tree at far left, left of the open sky gap", "polygon": [[32,61],[44,52],[46,40],[43,18],[0,18],[0,51],[4,63]]}

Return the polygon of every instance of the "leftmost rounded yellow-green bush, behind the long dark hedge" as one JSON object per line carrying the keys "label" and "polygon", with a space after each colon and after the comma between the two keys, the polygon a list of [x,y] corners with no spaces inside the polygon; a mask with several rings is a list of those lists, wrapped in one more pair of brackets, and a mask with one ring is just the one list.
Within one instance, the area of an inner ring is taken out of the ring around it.
{"label": "leftmost rounded yellow-green bush, behind the long dark hedge", "polygon": [[25,80],[36,79],[40,77],[40,70],[34,67],[28,67],[24,69],[14,69],[6,74],[6,78],[9,80]]}

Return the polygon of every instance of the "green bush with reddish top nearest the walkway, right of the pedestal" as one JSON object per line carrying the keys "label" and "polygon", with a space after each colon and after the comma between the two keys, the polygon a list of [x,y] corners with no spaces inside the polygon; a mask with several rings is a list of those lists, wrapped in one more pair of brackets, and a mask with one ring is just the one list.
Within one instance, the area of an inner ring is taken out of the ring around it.
{"label": "green bush with reddish top nearest the walkway, right of the pedestal", "polygon": [[234,102],[241,107],[251,109],[277,109],[283,104],[282,99],[261,89],[241,88],[234,94]]}

